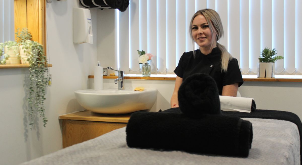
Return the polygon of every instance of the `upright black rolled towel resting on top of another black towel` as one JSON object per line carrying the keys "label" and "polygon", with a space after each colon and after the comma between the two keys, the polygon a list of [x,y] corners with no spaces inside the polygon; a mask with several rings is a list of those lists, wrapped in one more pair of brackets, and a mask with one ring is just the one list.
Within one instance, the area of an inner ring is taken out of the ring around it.
{"label": "upright black rolled towel resting on top of another black towel", "polygon": [[196,73],[185,79],[178,90],[178,104],[182,113],[192,118],[221,114],[216,82],[205,73]]}

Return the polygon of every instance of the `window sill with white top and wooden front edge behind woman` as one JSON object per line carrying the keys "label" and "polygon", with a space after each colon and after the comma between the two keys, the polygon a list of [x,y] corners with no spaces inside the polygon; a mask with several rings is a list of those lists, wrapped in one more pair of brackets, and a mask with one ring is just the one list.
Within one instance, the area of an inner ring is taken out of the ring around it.
{"label": "window sill with white top and wooden front edge behind woman", "polygon": [[[144,77],[140,74],[127,74],[125,79],[151,79],[151,80],[175,80],[176,75],[151,75]],[[243,81],[258,81],[258,82],[302,82],[302,76],[287,76],[277,75],[275,78],[257,78],[257,75],[243,75]],[[94,75],[89,75],[88,78],[94,78]],[[103,79],[116,79],[117,76],[103,76]]]}

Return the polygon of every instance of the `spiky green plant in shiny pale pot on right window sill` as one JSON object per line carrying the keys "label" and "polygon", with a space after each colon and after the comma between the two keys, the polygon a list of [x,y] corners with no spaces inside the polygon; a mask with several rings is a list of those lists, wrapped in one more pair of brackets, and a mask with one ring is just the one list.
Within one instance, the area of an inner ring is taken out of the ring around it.
{"label": "spiky green plant in shiny pale pot on right window sill", "polygon": [[257,65],[257,77],[275,77],[275,62],[277,60],[283,59],[283,56],[275,56],[278,53],[275,48],[269,49],[265,47],[260,53],[261,55],[259,57],[259,63]]}

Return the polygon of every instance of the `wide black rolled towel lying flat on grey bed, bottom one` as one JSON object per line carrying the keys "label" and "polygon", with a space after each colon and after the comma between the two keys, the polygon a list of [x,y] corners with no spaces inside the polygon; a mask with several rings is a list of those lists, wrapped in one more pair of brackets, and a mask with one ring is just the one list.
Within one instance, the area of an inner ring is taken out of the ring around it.
{"label": "wide black rolled towel lying flat on grey bed, bottom one", "polygon": [[126,128],[129,147],[182,150],[247,157],[252,124],[239,117],[180,113],[135,112]]}

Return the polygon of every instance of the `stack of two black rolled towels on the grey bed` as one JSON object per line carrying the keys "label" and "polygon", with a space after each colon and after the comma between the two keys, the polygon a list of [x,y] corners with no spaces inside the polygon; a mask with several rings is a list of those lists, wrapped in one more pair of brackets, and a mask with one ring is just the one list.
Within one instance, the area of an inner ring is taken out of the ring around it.
{"label": "stack of two black rolled towels on the grey bed", "polygon": [[249,155],[252,124],[221,114],[218,89],[210,76],[201,73],[188,77],[179,88],[178,99],[179,108],[133,113],[126,128],[127,145],[201,154]]}

